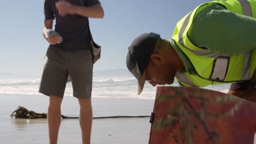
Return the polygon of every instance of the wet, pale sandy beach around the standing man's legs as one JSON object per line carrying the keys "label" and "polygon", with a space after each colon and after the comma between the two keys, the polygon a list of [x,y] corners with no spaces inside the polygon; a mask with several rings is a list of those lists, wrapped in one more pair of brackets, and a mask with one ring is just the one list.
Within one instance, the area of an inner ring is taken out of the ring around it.
{"label": "wet, pale sandy beach around the standing man's legs", "polygon": [[[44,95],[3,95],[0,94],[0,140],[1,143],[48,143],[46,119],[15,119],[10,113],[17,107],[25,106],[35,112],[46,112],[48,97]],[[92,98],[94,117],[150,115],[153,100]],[[62,114],[78,116],[78,101],[65,97]],[[148,143],[149,118],[94,119],[91,143]],[[78,119],[62,119],[59,143],[82,143]]]}

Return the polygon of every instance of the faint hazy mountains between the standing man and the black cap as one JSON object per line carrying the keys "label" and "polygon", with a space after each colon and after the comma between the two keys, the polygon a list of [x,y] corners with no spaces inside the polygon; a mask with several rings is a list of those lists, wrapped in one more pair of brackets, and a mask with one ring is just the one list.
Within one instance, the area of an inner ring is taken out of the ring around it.
{"label": "faint hazy mountains between the standing man and the black cap", "polygon": [[132,74],[129,70],[125,69],[107,69],[103,71],[94,71],[94,76],[104,77],[130,77]]}

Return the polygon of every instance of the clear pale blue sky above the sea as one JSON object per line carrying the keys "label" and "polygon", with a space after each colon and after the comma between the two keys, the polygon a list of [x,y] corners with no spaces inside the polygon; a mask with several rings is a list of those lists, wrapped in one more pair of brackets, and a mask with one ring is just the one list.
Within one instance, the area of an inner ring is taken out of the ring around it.
{"label": "clear pale blue sky above the sea", "polygon": [[[90,19],[102,58],[94,70],[126,69],[127,47],[139,34],[155,32],[170,39],[176,23],[207,0],[101,0],[104,19]],[[44,1],[2,1],[0,72],[41,75],[48,43],[42,36]]]}

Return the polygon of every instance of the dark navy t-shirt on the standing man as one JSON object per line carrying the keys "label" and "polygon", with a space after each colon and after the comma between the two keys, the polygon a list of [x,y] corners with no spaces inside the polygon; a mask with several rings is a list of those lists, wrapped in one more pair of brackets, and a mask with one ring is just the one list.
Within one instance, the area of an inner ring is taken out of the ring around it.
{"label": "dark navy t-shirt on the standing man", "polygon": [[[89,20],[88,17],[68,14],[65,17],[59,15],[55,3],[59,0],[44,1],[44,20],[55,19],[55,31],[59,33],[63,41],[61,44],[50,45],[61,50],[74,51],[90,48]],[[80,0],[66,0],[67,2],[82,6]],[[98,0],[83,0],[87,7],[100,4]]]}

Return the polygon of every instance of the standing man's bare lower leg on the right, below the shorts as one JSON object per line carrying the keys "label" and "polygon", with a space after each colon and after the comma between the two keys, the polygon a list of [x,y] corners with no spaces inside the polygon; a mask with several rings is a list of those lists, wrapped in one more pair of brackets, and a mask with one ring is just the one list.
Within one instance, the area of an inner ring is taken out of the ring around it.
{"label": "standing man's bare lower leg on the right, below the shorts", "polygon": [[78,99],[78,101],[80,104],[79,122],[82,130],[83,144],[90,144],[92,124],[91,99]]}

